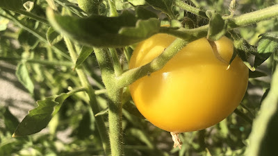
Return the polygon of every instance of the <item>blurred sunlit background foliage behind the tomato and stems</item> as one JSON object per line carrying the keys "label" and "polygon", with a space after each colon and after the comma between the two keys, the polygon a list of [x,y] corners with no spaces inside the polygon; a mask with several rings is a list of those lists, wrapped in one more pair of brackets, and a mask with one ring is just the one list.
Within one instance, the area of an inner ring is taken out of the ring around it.
{"label": "blurred sunlit background foliage behind the tomato and stems", "polygon": [[[23,3],[27,2],[24,0]],[[45,17],[45,9],[55,3],[58,10],[70,12],[70,14],[83,15],[76,5],[75,0],[32,0],[26,3],[26,10],[35,15]],[[229,3],[227,0],[197,1],[192,0],[197,8],[203,10],[217,10],[222,15],[229,15]],[[1,2],[0,2],[1,3]],[[243,0],[238,1],[235,15],[259,10],[278,3],[275,0]],[[142,5],[167,21],[167,16],[154,8],[147,6],[144,0],[117,0],[117,10],[134,10],[135,6]],[[108,1],[101,3],[101,15],[108,15]],[[174,8],[174,13],[183,21],[183,16],[193,17],[180,8]],[[184,21],[190,22],[190,19]],[[193,21],[193,23],[197,21]],[[206,24],[206,21],[198,21],[197,25]],[[38,38],[28,31],[31,28],[35,33],[44,38]],[[250,44],[258,43],[258,36],[262,33],[278,31],[278,18],[262,21],[252,26],[237,28],[236,31]],[[72,70],[72,64],[67,57],[67,49],[61,37],[49,34],[49,26],[42,24],[24,15],[13,11],[0,9],[0,90],[1,93],[13,92],[6,87],[8,83],[19,89],[19,94],[13,96],[0,95],[0,155],[34,155],[34,156],[63,156],[63,155],[104,155],[100,143],[99,133],[95,127],[95,116],[92,115],[87,105],[88,99],[83,93],[74,94],[65,101],[58,114],[51,120],[46,129],[28,137],[12,138],[13,132],[19,121],[27,114],[28,110],[36,107],[34,101],[47,96],[68,92],[69,89],[81,86],[76,72]],[[51,36],[52,35],[52,36]],[[48,40],[54,37],[54,40]],[[55,48],[51,48],[55,46]],[[80,51],[81,47],[76,46]],[[129,47],[131,50],[131,47]],[[261,100],[268,92],[271,80],[272,64],[271,56],[259,71],[267,73],[262,78],[250,78],[247,93],[235,111],[227,119],[211,128],[197,132],[180,134],[183,145],[181,150],[172,148],[172,138],[168,132],[160,130],[144,119],[138,118],[130,111],[123,110],[124,149],[126,155],[186,155],[186,156],[236,156],[245,155],[245,150],[250,144],[250,132],[252,121],[261,107]],[[122,56],[123,58],[123,56]],[[38,61],[38,60],[47,60]],[[250,59],[252,63],[252,58]],[[28,71],[27,78],[33,83],[33,94],[29,94],[29,100],[24,100],[22,92],[29,92],[28,87],[19,83],[20,78],[15,77],[18,64],[24,64]],[[95,90],[104,89],[101,82],[95,55],[83,62],[91,85]],[[126,103],[132,103],[129,94]],[[103,94],[97,96],[101,110],[105,110],[106,100]],[[107,114],[102,114],[107,122]],[[276,123],[277,124],[277,123]]]}

